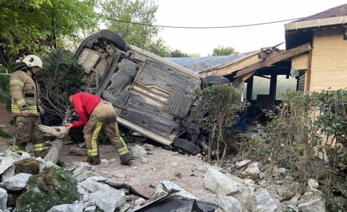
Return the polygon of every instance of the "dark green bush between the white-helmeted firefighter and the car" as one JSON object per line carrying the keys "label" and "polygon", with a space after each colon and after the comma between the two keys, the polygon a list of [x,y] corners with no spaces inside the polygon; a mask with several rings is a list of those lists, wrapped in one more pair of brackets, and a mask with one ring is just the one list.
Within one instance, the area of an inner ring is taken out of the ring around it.
{"label": "dark green bush between the white-helmeted firefighter and the car", "polygon": [[70,103],[66,91],[69,87],[78,87],[84,68],[65,49],[54,49],[42,55],[43,70],[37,77],[41,89],[41,101],[47,118],[60,124],[66,116]]}

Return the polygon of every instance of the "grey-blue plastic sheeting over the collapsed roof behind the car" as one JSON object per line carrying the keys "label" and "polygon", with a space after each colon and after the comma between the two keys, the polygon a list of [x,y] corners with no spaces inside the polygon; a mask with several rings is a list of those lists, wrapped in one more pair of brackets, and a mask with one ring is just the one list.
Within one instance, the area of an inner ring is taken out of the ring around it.
{"label": "grey-blue plastic sheeting over the collapsed roof behind the car", "polygon": [[201,58],[165,58],[166,60],[172,61],[178,65],[188,68],[194,72],[200,73],[208,68],[218,66],[227,62],[234,61],[238,58],[252,54],[253,52],[246,52],[238,55],[228,56],[213,56],[213,57],[201,57]]}

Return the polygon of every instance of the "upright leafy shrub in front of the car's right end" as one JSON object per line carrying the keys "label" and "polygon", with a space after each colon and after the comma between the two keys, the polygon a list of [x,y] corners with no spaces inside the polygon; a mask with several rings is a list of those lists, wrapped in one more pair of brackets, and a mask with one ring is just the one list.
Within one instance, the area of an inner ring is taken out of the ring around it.
{"label": "upright leafy shrub in front of the car's right end", "polygon": [[[206,117],[202,120],[202,128],[209,134],[208,160],[211,159],[211,152],[214,142],[216,142],[217,162],[222,164],[227,153],[228,143],[225,139],[226,127],[230,127],[237,117],[236,112],[246,107],[245,103],[240,103],[241,93],[230,84],[213,85],[204,88],[198,95],[201,108],[206,112]],[[219,150],[224,147],[222,159],[219,161]]]}

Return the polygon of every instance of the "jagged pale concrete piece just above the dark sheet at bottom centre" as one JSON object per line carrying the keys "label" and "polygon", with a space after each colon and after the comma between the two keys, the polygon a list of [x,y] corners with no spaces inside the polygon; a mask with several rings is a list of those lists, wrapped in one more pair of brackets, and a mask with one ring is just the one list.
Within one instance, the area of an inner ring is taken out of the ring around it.
{"label": "jagged pale concrete piece just above the dark sheet at bottom centre", "polygon": [[183,188],[180,188],[174,182],[163,180],[157,186],[157,189],[155,190],[153,194],[152,200],[156,200],[156,199],[159,199],[160,197],[166,196],[169,194],[170,191],[178,191],[178,192],[175,192],[174,195],[178,195],[188,199],[197,199],[194,195],[190,194]]}

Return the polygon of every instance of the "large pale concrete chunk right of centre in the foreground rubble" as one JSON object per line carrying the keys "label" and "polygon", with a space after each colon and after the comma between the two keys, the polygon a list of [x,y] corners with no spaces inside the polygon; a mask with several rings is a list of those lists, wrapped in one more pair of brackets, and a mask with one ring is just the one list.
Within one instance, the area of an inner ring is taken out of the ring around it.
{"label": "large pale concrete chunk right of centre in the foreground rubble", "polygon": [[218,196],[228,196],[237,192],[236,182],[214,169],[207,170],[204,177],[204,185]]}

